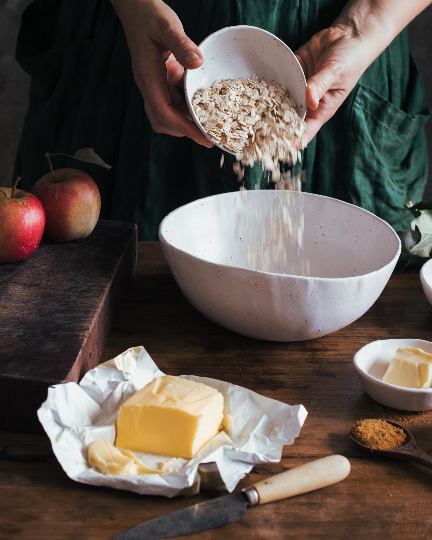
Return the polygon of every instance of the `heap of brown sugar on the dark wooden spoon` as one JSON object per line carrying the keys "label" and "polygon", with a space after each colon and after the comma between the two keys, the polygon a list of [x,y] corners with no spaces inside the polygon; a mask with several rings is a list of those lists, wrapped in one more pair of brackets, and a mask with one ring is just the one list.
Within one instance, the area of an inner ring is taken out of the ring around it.
{"label": "heap of brown sugar on the dark wooden spoon", "polygon": [[406,438],[403,429],[376,418],[358,420],[349,430],[349,434],[360,444],[374,450],[399,448]]}

